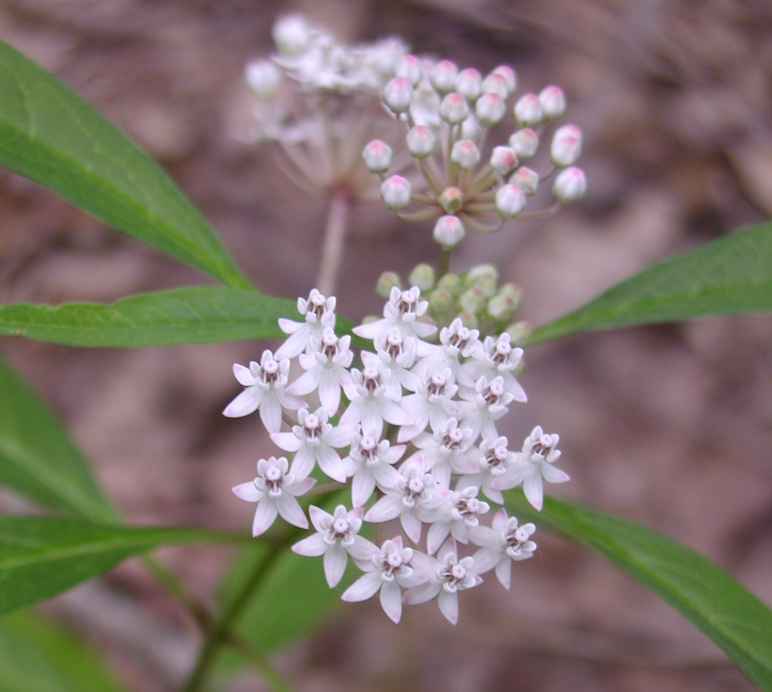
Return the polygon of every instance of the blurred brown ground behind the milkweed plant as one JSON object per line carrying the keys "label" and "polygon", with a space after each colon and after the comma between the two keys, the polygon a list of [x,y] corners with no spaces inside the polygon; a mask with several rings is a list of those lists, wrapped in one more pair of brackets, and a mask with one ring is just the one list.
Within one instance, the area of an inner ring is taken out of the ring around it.
{"label": "blurred brown ground behind the milkweed plant", "polygon": [[[399,33],[416,52],[520,85],[558,83],[585,133],[587,198],[548,222],[470,237],[462,269],[500,258],[540,323],[664,255],[772,215],[772,5],[739,0],[3,0],[0,37],[94,103],[164,164],[261,289],[305,295],[323,201],[301,196],[260,147],[232,138],[242,67],[270,22],[300,8],[343,39]],[[110,301],[201,282],[35,184],[0,172],[0,300]],[[378,204],[354,215],[340,312],[378,308],[363,287],[435,249]],[[68,349],[2,339],[136,522],[245,528],[232,484],[269,452],[254,419],[225,420],[230,366],[256,343]],[[577,336],[527,353],[530,404],[506,420],[561,436],[572,477],[554,494],[644,522],[703,552],[772,603],[772,320],[713,319]],[[17,508],[15,498],[3,499]],[[493,579],[392,626],[344,606],[276,665],[299,690],[750,690],[720,650],[607,562],[537,533],[513,589]],[[168,550],[209,598],[230,552]],[[321,574],[320,574],[321,578]],[[489,582],[489,583],[488,583]],[[302,595],[299,594],[299,598]],[[107,653],[134,690],[171,690],[198,636],[129,562],[49,606]],[[263,689],[242,673],[229,690]]]}

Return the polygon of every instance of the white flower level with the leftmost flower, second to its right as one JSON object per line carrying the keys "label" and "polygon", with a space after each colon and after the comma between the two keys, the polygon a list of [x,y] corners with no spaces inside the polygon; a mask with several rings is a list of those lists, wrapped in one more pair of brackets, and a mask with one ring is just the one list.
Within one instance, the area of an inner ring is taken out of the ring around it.
{"label": "white flower level with the leftmost flower, second to its right", "polygon": [[361,372],[352,368],[351,381],[357,389],[351,397],[351,403],[340,417],[340,424],[361,423],[365,433],[380,440],[384,420],[392,425],[410,425],[414,421],[389,396],[386,387],[388,378],[386,366],[378,356],[374,358],[376,360],[365,365]]}

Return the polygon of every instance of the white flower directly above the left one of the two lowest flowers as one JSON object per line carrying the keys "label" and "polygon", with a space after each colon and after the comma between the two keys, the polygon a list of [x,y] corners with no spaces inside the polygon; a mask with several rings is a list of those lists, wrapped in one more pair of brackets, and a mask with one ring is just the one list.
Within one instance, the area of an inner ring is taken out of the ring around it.
{"label": "white flower directly above the left one of the two lowest flowers", "polygon": [[422,461],[405,462],[399,470],[400,478],[364,515],[365,522],[389,522],[399,517],[408,538],[414,543],[421,540],[422,517],[447,500],[451,492],[440,488],[425,473]]}

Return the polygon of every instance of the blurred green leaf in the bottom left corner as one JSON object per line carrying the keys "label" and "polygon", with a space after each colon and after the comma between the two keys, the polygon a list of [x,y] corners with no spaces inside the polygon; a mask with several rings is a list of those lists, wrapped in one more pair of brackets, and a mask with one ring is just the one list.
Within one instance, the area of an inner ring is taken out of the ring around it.
{"label": "blurred green leaf in the bottom left corner", "polygon": [[0,692],[118,692],[97,653],[29,611],[0,619]]}

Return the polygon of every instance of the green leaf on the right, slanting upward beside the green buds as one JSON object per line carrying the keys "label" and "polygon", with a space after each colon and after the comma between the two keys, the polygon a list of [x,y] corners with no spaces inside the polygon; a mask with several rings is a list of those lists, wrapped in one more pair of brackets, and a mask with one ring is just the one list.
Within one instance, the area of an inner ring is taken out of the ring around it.
{"label": "green leaf on the right, slanting upward beside the green buds", "polygon": [[767,222],[645,268],[537,327],[530,343],[574,332],[770,310],[772,222]]}

